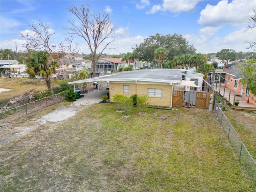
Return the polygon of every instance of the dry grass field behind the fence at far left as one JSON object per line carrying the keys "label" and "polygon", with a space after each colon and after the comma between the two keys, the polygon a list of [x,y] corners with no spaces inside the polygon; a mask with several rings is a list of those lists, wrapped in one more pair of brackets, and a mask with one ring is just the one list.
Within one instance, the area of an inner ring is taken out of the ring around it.
{"label": "dry grass field behind the fence at far left", "polygon": [[33,89],[34,92],[37,93],[47,90],[47,86],[44,80],[28,78],[1,78],[0,88],[10,89],[9,91],[0,92],[1,104],[8,102],[10,98],[20,96],[25,92],[29,92]]}

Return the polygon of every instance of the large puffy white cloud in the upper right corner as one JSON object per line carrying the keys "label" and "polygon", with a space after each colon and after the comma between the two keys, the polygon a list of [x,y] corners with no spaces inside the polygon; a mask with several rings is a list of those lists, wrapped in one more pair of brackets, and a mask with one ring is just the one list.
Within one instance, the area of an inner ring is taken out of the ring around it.
{"label": "large puffy white cloud in the upper right corner", "polygon": [[248,22],[245,17],[256,7],[255,0],[228,0],[218,2],[216,6],[207,4],[201,11],[198,23],[202,26],[240,26]]}

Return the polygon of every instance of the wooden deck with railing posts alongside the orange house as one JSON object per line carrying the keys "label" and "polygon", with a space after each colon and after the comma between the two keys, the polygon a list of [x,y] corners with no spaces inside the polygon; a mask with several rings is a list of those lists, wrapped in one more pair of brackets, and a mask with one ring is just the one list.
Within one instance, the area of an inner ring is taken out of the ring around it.
{"label": "wooden deck with railing posts alongside the orange house", "polygon": [[[240,92],[234,92],[228,88],[226,88],[223,84],[218,84],[217,86],[214,86],[214,89],[220,94],[222,97],[226,97],[227,101],[229,102],[231,108],[233,109],[239,109],[239,110],[252,110],[256,111],[256,105],[252,103],[247,103],[247,99],[239,96]],[[238,106],[234,106],[234,100],[238,99],[239,104]]]}

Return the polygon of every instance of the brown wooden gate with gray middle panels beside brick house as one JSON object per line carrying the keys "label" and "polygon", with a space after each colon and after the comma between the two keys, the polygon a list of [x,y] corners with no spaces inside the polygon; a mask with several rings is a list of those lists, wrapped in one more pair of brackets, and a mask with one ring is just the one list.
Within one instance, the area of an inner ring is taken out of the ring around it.
{"label": "brown wooden gate with gray middle panels beside brick house", "polygon": [[210,92],[174,90],[172,106],[209,108]]}

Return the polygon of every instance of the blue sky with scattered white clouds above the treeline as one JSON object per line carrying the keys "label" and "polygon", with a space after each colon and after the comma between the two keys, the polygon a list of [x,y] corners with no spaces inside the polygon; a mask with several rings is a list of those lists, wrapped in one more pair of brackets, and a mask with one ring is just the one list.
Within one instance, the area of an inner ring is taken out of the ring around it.
{"label": "blue sky with scattered white clouds above the treeline", "polygon": [[[107,54],[132,52],[144,38],[160,33],[182,34],[196,52],[210,53],[222,49],[253,52],[246,49],[256,39],[256,28],[244,32],[248,14],[256,8],[256,0],[1,0],[0,48],[25,50],[20,33],[30,32],[28,22],[48,24],[56,29],[53,44],[64,42],[68,19],[74,18],[68,7],[89,4],[96,12],[108,12],[110,21],[122,34],[104,51]],[[81,53],[88,54],[85,41],[75,37]]]}

